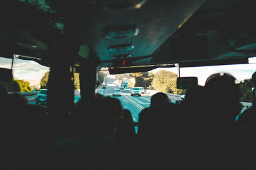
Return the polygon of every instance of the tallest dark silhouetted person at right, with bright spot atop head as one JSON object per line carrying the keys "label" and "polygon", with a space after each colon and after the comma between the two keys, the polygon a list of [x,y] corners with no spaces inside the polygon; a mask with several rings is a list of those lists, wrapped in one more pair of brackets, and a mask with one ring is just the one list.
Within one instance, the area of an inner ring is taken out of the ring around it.
{"label": "tallest dark silhouetted person at right, with bright spot atop head", "polygon": [[[236,78],[227,73],[212,74],[205,82],[205,140],[202,162],[207,169],[236,169],[238,141],[235,118],[241,111],[240,89]],[[212,165],[209,167],[209,165]],[[241,167],[240,167],[241,168]]]}

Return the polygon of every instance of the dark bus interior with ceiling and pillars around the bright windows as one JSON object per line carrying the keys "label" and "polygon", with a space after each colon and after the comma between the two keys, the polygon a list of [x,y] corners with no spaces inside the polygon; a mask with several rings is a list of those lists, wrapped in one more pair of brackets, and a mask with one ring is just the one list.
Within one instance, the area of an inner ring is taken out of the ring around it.
{"label": "dark bus interior with ceiling and pillars around the bright windows", "polygon": [[[15,94],[0,96],[4,169],[256,168],[255,89],[249,89],[252,106],[235,122],[232,113],[241,111],[232,103],[237,86],[223,80],[213,85],[218,92],[206,88],[218,78],[234,81],[229,74],[214,74],[205,83],[205,93],[222,93],[217,101],[198,94],[189,110],[184,102],[137,104],[148,112],[148,122],[140,115],[131,121],[131,106],[118,100],[124,96],[95,95],[103,69],[116,75],[177,68],[177,87],[189,89],[197,75],[182,79],[182,69],[249,64],[256,56],[256,1],[3,0],[0,8],[0,57],[32,60],[50,70],[47,106],[24,108]],[[12,69],[0,68],[0,81],[12,81]],[[140,126],[148,128],[141,135]],[[134,128],[137,133],[128,130]]]}

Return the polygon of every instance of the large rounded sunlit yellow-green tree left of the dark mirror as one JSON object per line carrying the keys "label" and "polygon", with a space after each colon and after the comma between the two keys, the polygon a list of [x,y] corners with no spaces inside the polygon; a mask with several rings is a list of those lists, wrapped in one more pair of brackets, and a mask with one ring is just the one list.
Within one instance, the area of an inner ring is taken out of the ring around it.
{"label": "large rounded sunlit yellow-green tree left of the dark mirror", "polygon": [[171,71],[159,70],[154,75],[152,87],[159,92],[171,94],[184,94],[185,90],[176,88],[177,74]]}

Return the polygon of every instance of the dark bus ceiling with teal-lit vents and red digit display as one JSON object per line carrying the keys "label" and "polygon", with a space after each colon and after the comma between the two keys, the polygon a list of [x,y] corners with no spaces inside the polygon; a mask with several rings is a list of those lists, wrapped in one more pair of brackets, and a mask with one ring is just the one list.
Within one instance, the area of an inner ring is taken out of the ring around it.
{"label": "dark bus ceiling with teal-lit vents and red digit display", "polygon": [[100,66],[122,73],[256,55],[253,0],[4,0],[0,8],[0,55],[44,66],[79,65],[93,53]]}

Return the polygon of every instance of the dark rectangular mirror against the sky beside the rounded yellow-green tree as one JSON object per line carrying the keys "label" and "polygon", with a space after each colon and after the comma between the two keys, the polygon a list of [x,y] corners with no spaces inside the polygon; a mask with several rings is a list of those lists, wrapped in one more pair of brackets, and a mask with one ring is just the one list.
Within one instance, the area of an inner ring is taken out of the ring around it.
{"label": "dark rectangular mirror against the sky beside the rounded yellow-green tree", "polygon": [[197,77],[178,77],[177,78],[177,89],[189,89],[198,85]]}

